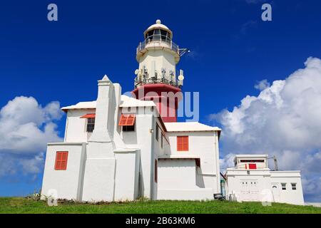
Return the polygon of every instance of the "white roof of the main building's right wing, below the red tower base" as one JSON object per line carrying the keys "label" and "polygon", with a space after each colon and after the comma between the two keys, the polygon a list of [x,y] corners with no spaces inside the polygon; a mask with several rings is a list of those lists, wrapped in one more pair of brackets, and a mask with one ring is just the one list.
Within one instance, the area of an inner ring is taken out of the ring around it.
{"label": "white roof of the main building's right wing, below the red tower base", "polygon": [[220,131],[220,128],[211,127],[198,122],[164,123],[168,132],[187,131]]}

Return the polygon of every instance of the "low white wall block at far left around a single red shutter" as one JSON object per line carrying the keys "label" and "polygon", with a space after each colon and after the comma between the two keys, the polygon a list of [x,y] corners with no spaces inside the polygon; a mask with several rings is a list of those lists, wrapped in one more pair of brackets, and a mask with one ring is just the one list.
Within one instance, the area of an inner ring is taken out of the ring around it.
{"label": "low white wall block at far left around a single red shutter", "polygon": [[[57,151],[68,151],[66,170],[55,170]],[[54,190],[58,194],[58,199],[81,200],[85,155],[86,143],[49,143],[41,195],[49,197],[48,192]]]}

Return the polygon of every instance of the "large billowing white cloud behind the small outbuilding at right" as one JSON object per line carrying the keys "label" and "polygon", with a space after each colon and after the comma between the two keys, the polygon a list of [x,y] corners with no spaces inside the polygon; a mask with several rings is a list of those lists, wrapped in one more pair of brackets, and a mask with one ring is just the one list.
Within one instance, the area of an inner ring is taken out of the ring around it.
{"label": "large billowing white cloud behind the small outbuilding at right", "polygon": [[232,111],[210,115],[223,127],[223,155],[268,153],[281,169],[320,177],[321,60],[308,58],[305,68],[263,85],[258,96],[247,95]]}

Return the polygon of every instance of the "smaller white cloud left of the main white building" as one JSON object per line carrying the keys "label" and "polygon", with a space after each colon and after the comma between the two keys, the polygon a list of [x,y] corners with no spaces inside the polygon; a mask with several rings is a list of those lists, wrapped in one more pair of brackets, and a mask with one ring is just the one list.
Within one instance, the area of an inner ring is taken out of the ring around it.
{"label": "smaller white cloud left of the main white building", "polygon": [[0,110],[0,177],[41,172],[47,142],[58,142],[54,120],[62,116],[60,104],[44,108],[32,97],[16,97]]}

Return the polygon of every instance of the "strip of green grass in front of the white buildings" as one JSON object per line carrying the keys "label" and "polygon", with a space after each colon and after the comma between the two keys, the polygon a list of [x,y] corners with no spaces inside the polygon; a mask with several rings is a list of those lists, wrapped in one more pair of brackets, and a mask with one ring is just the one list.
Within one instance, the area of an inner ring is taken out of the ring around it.
{"label": "strip of green grass in front of the white buildings", "polygon": [[110,204],[81,204],[76,202],[58,203],[57,207],[49,207],[44,201],[19,197],[0,198],[1,213],[121,213],[121,214],[321,214],[321,208],[295,206],[290,204],[272,204],[264,207],[260,202],[228,202],[228,201],[136,201],[136,202],[113,202]]}

